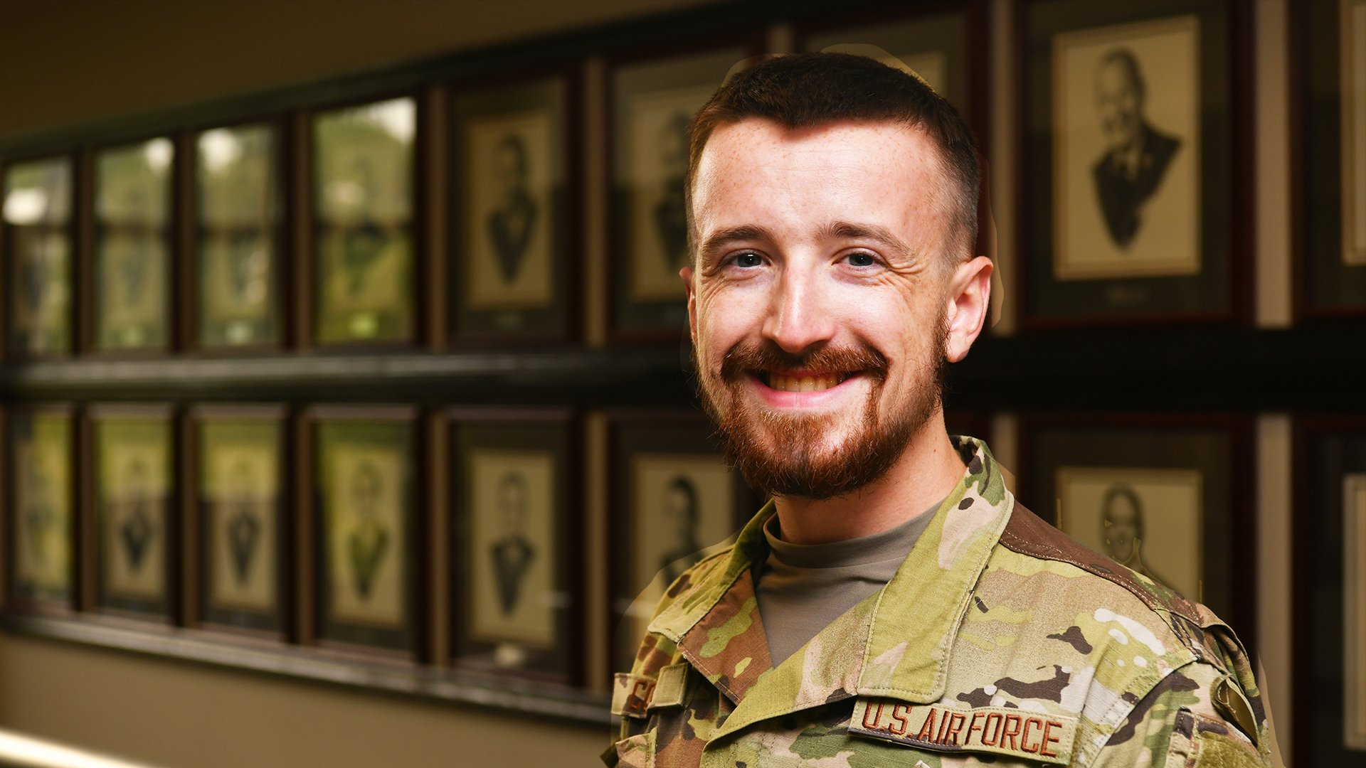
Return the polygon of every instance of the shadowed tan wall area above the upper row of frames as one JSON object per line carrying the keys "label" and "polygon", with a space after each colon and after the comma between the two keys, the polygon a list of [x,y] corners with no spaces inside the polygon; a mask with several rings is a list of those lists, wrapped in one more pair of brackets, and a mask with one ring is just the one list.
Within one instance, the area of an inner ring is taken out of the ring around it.
{"label": "shadowed tan wall area above the upper row of frames", "polygon": [[0,137],[710,0],[0,0]]}

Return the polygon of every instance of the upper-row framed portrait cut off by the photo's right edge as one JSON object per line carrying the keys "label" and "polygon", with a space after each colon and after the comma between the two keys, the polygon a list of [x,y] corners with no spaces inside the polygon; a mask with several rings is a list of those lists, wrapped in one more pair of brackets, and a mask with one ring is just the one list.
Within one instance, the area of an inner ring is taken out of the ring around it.
{"label": "upper-row framed portrait cut off by the photo's right edge", "polygon": [[1300,314],[1366,314],[1366,0],[1292,5]]}

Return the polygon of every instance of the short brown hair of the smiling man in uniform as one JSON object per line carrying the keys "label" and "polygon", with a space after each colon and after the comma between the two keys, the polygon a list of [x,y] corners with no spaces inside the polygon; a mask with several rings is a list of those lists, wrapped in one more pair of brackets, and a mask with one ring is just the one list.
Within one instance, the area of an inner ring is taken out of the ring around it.
{"label": "short brown hair of the smiling man in uniform", "polygon": [[943,96],[922,79],[852,53],[792,53],[775,56],[725,82],[698,109],[688,131],[687,221],[693,227],[693,182],[708,138],[719,126],[750,118],[803,128],[844,120],[902,123],[925,133],[938,148],[944,210],[949,216],[945,243],[971,258],[977,245],[977,201],[981,171],[971,128]]}

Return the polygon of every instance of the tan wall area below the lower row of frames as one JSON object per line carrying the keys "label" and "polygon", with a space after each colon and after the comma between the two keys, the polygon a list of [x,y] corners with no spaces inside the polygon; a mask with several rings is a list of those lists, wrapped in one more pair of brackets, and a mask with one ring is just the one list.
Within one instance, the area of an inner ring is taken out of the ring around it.
{"label": "tan wall area below the lower row of frames", "polygon": [[608,728],[0,634],[0,724],[163,768],[590,767]]}

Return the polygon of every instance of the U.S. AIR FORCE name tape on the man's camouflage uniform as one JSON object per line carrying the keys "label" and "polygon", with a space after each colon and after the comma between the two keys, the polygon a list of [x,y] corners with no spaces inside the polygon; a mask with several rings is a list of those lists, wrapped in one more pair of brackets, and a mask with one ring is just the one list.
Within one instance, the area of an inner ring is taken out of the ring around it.
{"label": "U.S. AIR FORCE name tape on the man's camouflage uniform", "polygon": [[1065,765],[1072,760],[1076,717],[1005,707],[971,709],[861,698],[850,732],[932,752],[993,752]]}

